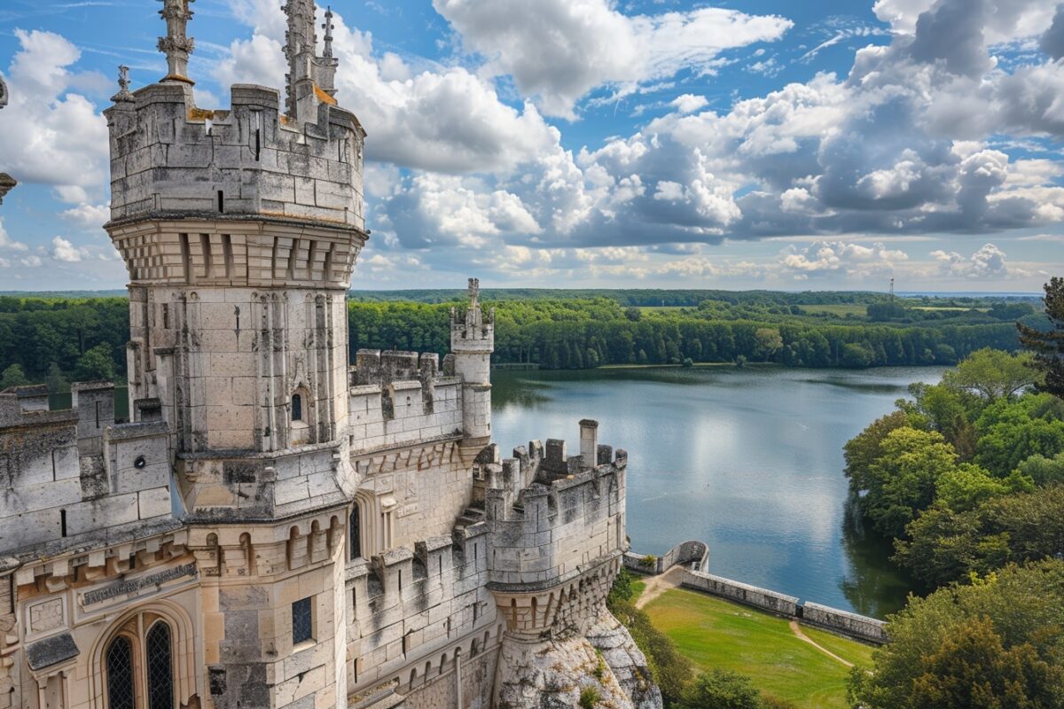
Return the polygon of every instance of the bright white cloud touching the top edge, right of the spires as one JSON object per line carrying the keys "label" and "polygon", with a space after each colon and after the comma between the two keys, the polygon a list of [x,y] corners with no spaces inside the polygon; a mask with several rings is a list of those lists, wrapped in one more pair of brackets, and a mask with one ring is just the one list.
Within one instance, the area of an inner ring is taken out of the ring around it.
{"label": "bright white cloud touching the top edge, right of the spires", "polygon": [[778,16],[703,7],[630,17],[608,0],[433,0],[462,36],[513,77],[525,96],[551,116],[573,118],[592,89],[610,84],[629,92],[680,69],[710,71],[719,53],[779,39],[793,26]]}

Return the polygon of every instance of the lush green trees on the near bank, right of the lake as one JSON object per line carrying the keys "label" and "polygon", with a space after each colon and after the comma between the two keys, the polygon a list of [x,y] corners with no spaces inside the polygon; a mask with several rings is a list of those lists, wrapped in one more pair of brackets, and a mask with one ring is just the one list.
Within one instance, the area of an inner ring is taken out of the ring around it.
{"label": "lush green trees on the near bank, right of the lake", "polygon": [[979,350],[846,444],[860,512],[932,592],[888,620],[867,709],[1064,707],[1064,280],[1024,351]]}

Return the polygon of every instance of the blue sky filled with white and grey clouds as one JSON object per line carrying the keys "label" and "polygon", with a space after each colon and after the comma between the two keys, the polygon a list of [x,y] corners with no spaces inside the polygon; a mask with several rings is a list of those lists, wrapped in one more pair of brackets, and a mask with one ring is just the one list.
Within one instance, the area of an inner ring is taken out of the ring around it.
{"label": "blue sky filled with white and grey clouds", "polygon": [[[195,0],[197,104],[284,82],[282,0]],[[121,288],[102,111],[157,0],[2,0],[0,290]],[[1064,3],[334,0],[354,288],[1033,292],[1064,275]],[[323,11],[319,7],[320,13]],[[321,40],[319,33],[319,43]]]}

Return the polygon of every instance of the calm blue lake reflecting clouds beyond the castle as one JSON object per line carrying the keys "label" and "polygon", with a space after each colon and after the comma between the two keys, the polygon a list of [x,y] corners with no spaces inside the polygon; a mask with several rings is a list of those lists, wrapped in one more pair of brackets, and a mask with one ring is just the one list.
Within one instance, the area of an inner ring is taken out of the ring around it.
{"label": "calm blue lake reflecting clouds beyond the castle", "polygon": [[886,543],[847,514],[843,444],[938,368],[861,372],[605,369],[494,372],[493,438],[503,455],[564,438],[578,421],[629,452],[635,551],[710,545],[710,571],[882,618],[913,589]]}

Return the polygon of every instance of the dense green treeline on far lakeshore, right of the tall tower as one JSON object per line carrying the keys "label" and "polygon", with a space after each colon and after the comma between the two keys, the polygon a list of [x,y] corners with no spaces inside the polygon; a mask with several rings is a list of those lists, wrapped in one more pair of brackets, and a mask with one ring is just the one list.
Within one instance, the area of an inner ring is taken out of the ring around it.
{"label": "dense green treeline on far lakeshore, right of the tall tower", "polygon": [[[795,315],[785,308],[703,302],[641,310],[609,299],[495,303],[496,364],[546,369],[601,365],[765,361],[787,367],[954,364],[981,348],[1014,350],[1015,325],[977,322],[872,323]],[[448,304],[349,305],[352,353],[395,348],[445,353]]]}

